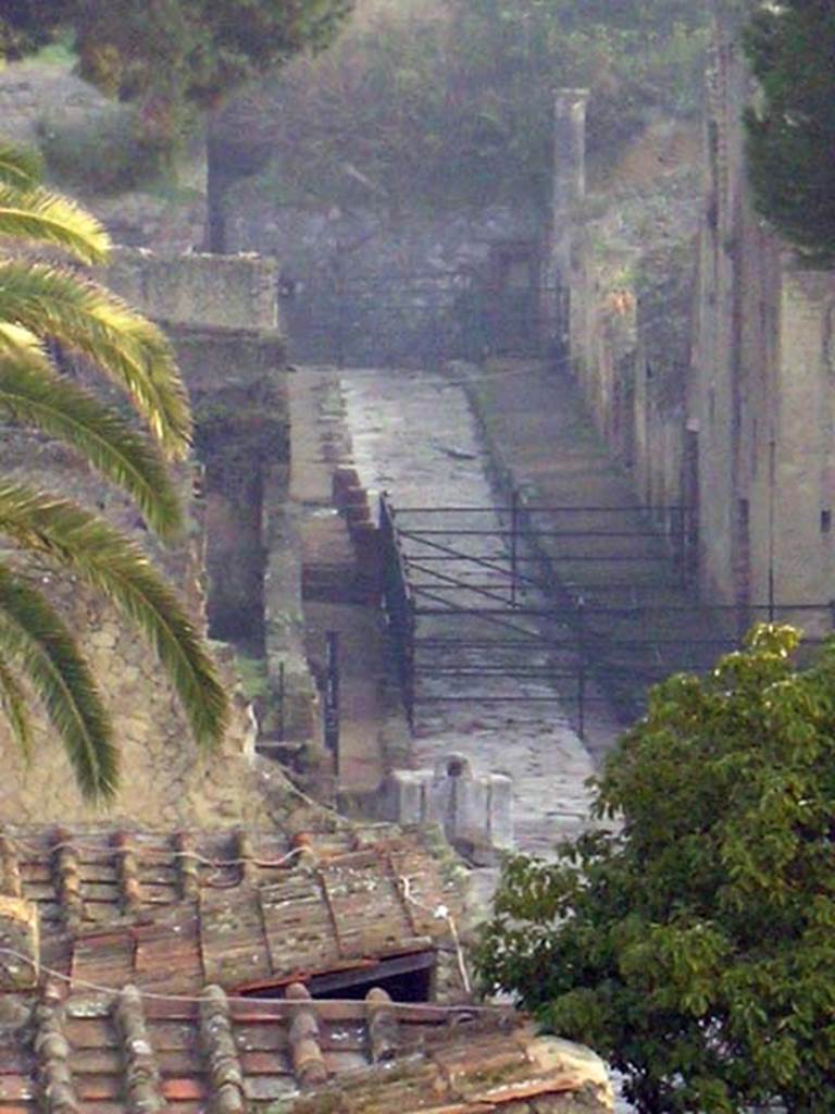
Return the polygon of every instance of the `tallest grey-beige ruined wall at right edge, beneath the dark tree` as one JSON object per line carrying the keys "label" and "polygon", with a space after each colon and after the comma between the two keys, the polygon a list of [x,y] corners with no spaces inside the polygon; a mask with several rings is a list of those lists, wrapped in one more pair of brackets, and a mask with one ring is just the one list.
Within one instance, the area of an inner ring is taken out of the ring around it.
{"label": "tallest grey-beige ruined wall at right edge, beneath the dark tree", "polygon": [[[738,29],[717,16],[690,421],[698,436],[705,594],[829,628],[835,274],[811,273],[753,212]],[[789,604],[819,604],[794,612]]]}

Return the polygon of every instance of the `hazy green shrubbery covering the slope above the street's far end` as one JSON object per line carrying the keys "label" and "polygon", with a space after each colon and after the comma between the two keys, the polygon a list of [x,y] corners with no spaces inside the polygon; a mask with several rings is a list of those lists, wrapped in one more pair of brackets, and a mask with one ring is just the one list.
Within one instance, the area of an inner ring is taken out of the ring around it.
{"label": "hazy green shrubbery covering the slope above the street's far end", "polygon": [[274,158],[265,193],[302,204],[544,203],[556,87],[590,88],[598,160],[659,108],[700,102],[701,4],[425,0],[360,17],[322,56],[253,89],[246,128],[229,115],[234,152],[259,145],[262,162]]}

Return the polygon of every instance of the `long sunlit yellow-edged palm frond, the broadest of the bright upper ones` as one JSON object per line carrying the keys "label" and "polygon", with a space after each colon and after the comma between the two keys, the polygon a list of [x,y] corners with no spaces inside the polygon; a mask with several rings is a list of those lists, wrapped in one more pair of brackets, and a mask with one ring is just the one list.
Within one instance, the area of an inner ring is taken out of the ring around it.
{"label": "long sunlit yellow-edged palm frond, the broadest of the bright upper ones", "polygon": [[128,393],[168,456],[187,455],[191,420],[173,349],[121,299],[62,267],[0,260],[0,320],[86,356]]}

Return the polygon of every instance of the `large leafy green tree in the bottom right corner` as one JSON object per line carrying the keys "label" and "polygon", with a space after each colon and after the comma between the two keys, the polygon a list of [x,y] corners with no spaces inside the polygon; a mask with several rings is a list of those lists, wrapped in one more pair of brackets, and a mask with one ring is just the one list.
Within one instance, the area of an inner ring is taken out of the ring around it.
{"label": "large leafy green tree in the bottom right corner", "polygon": [[511,859],[480,941],[642,1114],[835,1111],[835,643],[796,671],[796,642],[657,686],[597,784],[615,827]]}

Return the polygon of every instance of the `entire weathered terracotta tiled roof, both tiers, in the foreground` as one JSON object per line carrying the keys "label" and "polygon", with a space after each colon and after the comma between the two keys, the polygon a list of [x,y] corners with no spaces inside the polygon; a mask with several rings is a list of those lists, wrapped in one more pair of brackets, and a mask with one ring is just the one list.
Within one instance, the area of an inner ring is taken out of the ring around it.
{"label": "entire weathered terracotta tiled roof, both tiers, in the foreground", "polygon": [[379,985],[455,957],[459,911],[391,825],[7,828],[0,1114],[610,1111],[592,1053],[461,1000],[463,980],[446,1004]]}

